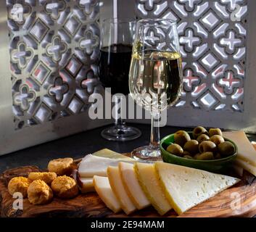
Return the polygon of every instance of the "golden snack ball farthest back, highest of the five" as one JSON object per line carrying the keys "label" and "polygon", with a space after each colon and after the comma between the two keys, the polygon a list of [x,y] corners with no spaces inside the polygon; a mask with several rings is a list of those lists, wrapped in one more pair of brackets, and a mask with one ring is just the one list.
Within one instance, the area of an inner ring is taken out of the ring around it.
{"label": "golden snack ball farthest back, highest of the five", "polygon": [[57,175],[71,175],[73,162],[72,158],[53,159],[48,164],[48,170]]}

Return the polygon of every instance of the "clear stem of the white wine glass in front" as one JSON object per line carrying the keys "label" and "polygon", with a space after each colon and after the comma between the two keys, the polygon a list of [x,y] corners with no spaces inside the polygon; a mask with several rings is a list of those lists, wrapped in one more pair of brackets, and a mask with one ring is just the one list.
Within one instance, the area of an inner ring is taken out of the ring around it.
{"label": "clear stem of the white wine glass in front", "polygon": [[152,148],[158,148],[160,144],[159,120],[160,114],[151,115],[151,135],[149,146]]}

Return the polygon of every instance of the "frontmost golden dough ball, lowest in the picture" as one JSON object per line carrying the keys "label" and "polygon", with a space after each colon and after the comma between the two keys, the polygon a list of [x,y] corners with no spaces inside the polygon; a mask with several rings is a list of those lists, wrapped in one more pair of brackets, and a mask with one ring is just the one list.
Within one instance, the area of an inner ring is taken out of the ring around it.
{"label": "frontmost golden dough ball, lowest in the picture", "polygon": [[53,196],[51,188],[44,181],[33,181],[28,187],[28,201],[31,204],[47,204]]}

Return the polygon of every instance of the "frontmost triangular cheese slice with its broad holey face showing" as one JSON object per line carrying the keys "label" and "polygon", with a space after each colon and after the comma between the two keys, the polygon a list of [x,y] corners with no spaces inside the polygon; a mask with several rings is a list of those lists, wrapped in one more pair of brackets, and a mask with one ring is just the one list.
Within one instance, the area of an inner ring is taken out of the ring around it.
{"label": "frontmost triangular cheese slice with its broad holey face showing", "polygon": [[240,181],[227,175],[165,162],[156,162],[155,168],[168,201],[178,215]]}

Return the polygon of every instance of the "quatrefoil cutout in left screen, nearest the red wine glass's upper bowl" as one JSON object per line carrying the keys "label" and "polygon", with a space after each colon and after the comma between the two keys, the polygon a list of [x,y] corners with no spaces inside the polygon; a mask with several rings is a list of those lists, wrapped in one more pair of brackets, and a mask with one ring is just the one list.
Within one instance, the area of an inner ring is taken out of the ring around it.
{"label": "quatrefoil cutout in left screen, nearest the red wine glass's upper bowl", "polygon": [[98,46],[99,39],[98,37],[94,36],[91,30],[87,30],[84,33],[84,38],[80,39],[80,48],[86,51],[86,54],[91,55],[94,51],[94,48]]}

